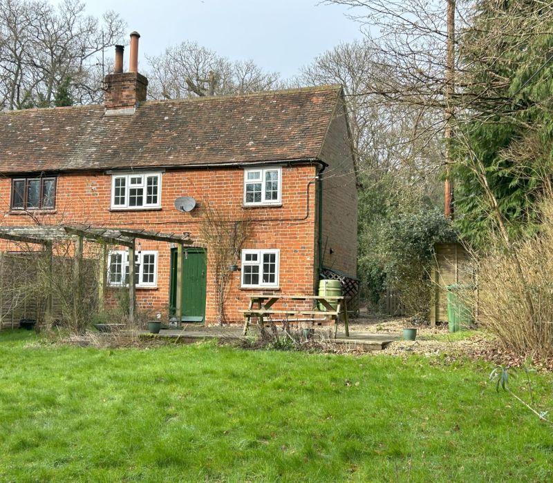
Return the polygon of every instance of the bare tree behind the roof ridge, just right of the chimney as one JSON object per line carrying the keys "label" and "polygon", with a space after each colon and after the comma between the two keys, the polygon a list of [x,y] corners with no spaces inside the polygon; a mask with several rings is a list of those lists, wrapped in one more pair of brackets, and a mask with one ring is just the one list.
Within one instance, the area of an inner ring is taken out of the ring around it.
{"label": "bare tree behind the roof ridge, just right of the chimney", "polygon": [[229,61],[196,42],[185,41],[146,57],[153,99],[244,94],[283,85],[277,72],[264,72],[252,60]]}

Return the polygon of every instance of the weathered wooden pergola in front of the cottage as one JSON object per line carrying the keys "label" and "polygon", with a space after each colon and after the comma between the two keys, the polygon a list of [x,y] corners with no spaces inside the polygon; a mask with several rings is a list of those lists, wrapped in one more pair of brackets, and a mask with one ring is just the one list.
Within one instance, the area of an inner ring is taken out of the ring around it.
{"label": "weathered wooden pergola in front of the cottage", "polygon": [[[180,293],[182,284],[182,256],[184,254],[184,246],[191,245],[192,241],[188,235],[177,235],[176,233],[162,233],[147,230],[131,230],[120,228],[102,228],[90,225],[44,225],[44,226],[1,226],[0,239],[9,240],[10,242],[19,242],[27,244],[39,244],[44,246],[47,257],[50,259],[50,270],[52,270],[53,259],[53,242],[63,239],[73,239],[75,244],[75,264],[73,266],[77,287],[75,288],[75,297],[73,297],[73,315],[77,317],[77,306],[79,297],[82,293],[80,283],[81,261],[83,256],[83,242],[95,242],[102,244],[102,253],[100,257],[100,273],[98,294],[99,303],[104,305],[104,294],[106,288],[107,274],[107,246],[126,246],[129,248],[129,260],[134,260],[135,257],[135,242],[136,239],[154,240],[156,242],[166,242],[176,244],[178,250],[177,258],[177,293]],[[135,264],[129,263],[129,321],[135,321],[136,308],[136,286],[135,286]],[[46,315],[53,313],[52,294],[48,293],[46,298]],[[176,316],[180,320],[182,315],[182,307],[180,306],[180,297],[176,299]]]}

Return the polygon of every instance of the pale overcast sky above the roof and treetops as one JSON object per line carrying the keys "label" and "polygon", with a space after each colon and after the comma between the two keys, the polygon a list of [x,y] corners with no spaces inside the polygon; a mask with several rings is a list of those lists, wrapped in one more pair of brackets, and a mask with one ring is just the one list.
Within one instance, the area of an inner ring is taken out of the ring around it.
{"label": "pale overcast sky above the roof and treetops", "polygon": [[362,36],[344,6],[317,0],[85,1],[90,14],[115,10],[129,33],[140,33],[141,58],[184,40],[197,41],[231,60],[254,59],[283,78],[339,42]]}

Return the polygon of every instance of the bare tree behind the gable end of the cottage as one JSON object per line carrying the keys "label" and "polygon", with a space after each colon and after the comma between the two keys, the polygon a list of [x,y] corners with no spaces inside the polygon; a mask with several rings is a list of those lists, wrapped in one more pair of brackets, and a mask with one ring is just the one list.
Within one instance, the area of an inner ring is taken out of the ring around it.
{"label": "bare tree behind the gable end of the cottage", "polygon": [[362,182],[369,184],[365,188],[371,189],[393,173],[398,190],[411,197],[422,186],[428,192],[424,180],[433,181],[440,163],[440,144],[429,129],[435,119],[418,106],[394,103],[375,94],[378,79],[392,75],[384,68],[370,41],[354,41],[317,57],[296,81],[300,85],[343,86],[357,172]]}

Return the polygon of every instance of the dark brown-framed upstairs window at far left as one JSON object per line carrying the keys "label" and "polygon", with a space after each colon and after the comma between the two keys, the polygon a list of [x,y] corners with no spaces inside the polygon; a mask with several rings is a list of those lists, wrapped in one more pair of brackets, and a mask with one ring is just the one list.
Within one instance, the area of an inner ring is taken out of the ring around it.
{"label": "dark brown-framed upstairs window at far left", "polygon": [[12,179],[12,210],[52,210],[55,199],[55,177]]}

